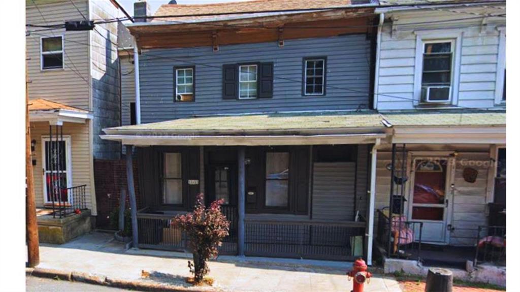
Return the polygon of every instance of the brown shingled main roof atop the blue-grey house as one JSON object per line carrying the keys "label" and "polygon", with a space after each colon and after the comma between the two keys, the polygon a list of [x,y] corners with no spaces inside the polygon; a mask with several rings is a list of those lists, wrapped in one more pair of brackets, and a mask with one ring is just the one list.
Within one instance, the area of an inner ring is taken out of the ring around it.
{"label": "brown shingled main roof atop the blue-grey house", "polygon": [[[186,21],[200,19],[226,18],[227,16],[241,14],[257,14],[279,10],[294,9],[324,9],[324,8],[348,8],[351,6],[363,6],[375,4],[373,0],[255,0],[244,2],[215,3],[215,4],[163,4],[153,16],[152,22]],[[209,14],[218,14],[210,16]],[[190,17],[176,17],[181,15],[193,15]],[[172,17],[165,17],[172,16]]]}

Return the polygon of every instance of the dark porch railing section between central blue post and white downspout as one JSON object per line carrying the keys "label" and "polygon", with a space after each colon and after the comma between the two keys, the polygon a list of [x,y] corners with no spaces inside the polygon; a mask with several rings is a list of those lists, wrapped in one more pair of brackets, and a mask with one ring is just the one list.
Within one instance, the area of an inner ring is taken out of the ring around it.
{"label": "dark porch railing section between central blue post and white downspout", "polygon": [[363,256],[364,222],[245,220],[245,255],[353,260]]}

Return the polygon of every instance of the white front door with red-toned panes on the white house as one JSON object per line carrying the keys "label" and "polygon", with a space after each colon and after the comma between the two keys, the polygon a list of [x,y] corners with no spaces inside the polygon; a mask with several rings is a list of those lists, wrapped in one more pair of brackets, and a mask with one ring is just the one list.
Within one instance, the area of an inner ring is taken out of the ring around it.
{"label": "white front door with red-toned panes on the white house", "polygon": [[[450,157],[412,157],[408,217],[423,222],[422,242],[448,244],[451,220]],[[416,229],[419,226],[415,227]],[[419,230],[415,230],[419,234]]]}

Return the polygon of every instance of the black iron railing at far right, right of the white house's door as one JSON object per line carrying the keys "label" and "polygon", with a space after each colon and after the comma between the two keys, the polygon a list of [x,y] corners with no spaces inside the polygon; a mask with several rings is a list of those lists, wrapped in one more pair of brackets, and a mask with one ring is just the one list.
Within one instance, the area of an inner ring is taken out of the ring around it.
{"label": "black iron railing at far right, right of the white house's door", "polygon": [[473,264],[484,262],[505,266],[505,226],[478,227]]}

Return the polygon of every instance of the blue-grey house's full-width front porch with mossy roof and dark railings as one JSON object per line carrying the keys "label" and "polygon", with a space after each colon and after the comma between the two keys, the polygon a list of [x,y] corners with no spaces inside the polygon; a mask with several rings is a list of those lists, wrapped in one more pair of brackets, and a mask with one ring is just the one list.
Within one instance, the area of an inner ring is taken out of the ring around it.
{"label": "blue-grey house's full-width front porch with mossy roof and dark railings", "polygon": [[204,192],[206,204],[225,201],[223,254],[370,262],[370,144],[383,130],[377,114],[273,113],[111,128],[102,138],[135,145],[140,248],[186,250],[170,222]]}

